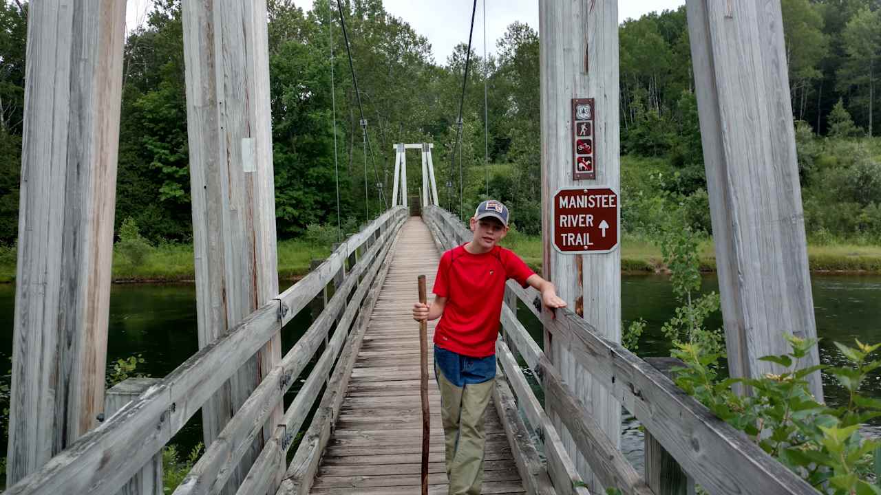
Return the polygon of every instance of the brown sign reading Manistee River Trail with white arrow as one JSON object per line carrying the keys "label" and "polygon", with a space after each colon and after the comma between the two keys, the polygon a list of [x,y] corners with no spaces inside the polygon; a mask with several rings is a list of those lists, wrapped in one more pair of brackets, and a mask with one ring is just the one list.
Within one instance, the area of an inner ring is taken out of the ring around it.
{"label": "brown sign reading Manistee River Trail with white arrow", "polygon": [[553,246],[565,255],[614,251],[620,217],[612,188],[560,188],[553,196]]}

